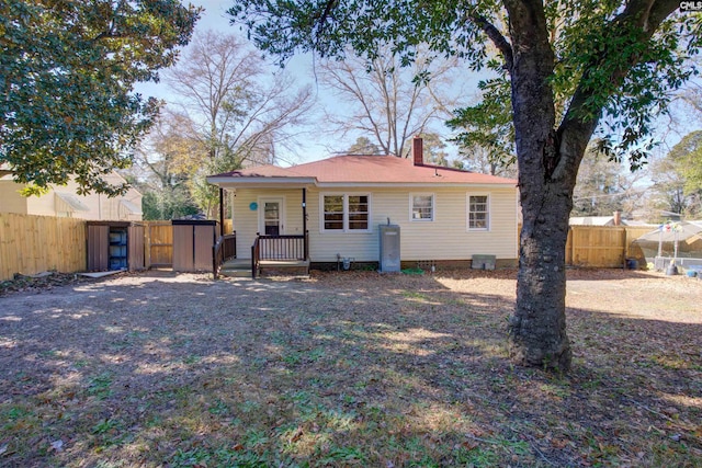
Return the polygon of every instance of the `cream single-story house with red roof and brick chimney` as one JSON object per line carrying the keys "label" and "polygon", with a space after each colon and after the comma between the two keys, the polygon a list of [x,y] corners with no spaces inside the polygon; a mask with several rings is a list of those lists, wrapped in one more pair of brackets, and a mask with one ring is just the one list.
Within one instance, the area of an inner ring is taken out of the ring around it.
{"label": "cream single-story house with red roof and brick chimney", "polygon": [[337,156],[291,168],[241,169],[207,181],[230,197],[238,259],[257,255],[251,246],[259,240],[282,238],[298,244],[279,242],[280,258],[313,266],[340,259],[377,263],[381,227],[393,225],[399,229],[403,266],[467,266],[475,255],[494,255],[498,266],[517,262],[517,181],[424,164],[418,137],[410,159]]}

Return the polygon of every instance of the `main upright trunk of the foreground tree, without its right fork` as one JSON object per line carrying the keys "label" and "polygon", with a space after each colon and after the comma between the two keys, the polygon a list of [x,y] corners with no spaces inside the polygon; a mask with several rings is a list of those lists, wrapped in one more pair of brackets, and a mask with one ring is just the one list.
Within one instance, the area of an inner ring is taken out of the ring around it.
{"label": "main upright trunk of the foreground tree, without its right fork", "polygon": [[565,320],[565,248],[577,172],[571,163],[580,159],[562,158],[564,146],[554,129],[548,80],[555,60],[542,4],[525,0],[506,5],[511,19],[509,71],[523,216],[510,354],[519,364],[567,370],[571,353]]}

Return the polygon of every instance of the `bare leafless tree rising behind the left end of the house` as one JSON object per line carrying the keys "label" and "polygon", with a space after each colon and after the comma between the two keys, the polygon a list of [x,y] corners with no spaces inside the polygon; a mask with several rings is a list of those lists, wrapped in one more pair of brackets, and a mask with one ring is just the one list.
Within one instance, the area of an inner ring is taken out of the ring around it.
{"label": "bare leafless tree rising behind the left end of the house", "polygon": [[176,163],[210,216],[219,196],[205,178],[275,162],[281,149],[295,147],[313,101],[308,87],[296,90],[291,75],[270,73],[245,39],[214,31],[194,36],[166,81],[177,95],[168,107],[180,121],[180,138],[189,142]]}

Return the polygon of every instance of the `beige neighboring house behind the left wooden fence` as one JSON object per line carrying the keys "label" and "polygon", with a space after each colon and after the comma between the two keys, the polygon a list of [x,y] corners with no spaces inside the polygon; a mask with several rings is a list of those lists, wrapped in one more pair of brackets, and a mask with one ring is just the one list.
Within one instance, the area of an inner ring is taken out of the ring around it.
{"label": "beige neighboring house behind the left wooden fence", "polygon": [[[0,168],[2,169],[2,168]],[[116,172],[104,176],[105,182],[117,185],[125,182]],[[14,181],[12,171],[0,171],[0,213],[80,218],[89,220],[141,220],[141,194],[134,187],[115,197],[91,193],[78,194],[72,180],[66,185],[52,184],[48,193],[24,196],[20,192],[26,185]]]}

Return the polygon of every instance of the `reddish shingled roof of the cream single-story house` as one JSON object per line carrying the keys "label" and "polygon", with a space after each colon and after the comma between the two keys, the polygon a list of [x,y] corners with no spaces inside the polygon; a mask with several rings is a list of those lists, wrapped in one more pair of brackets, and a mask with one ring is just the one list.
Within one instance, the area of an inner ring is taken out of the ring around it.
{"label": "reddish shingled roof of the cream single-story house", "polygon": [[337,156],[292,168],[268,164],[225,172],[207,178],[210,183],[226,186],[273,183],[349,185],[502,185],[517,181],[440,165],[418,164],[393,156]]}

